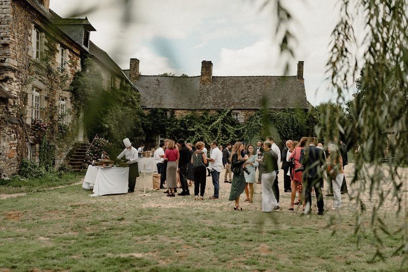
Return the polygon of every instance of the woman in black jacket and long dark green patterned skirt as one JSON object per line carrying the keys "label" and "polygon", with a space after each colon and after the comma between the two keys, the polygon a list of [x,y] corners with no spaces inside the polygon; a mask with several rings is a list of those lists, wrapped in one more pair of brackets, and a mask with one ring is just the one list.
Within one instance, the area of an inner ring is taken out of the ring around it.
{"label": "woman in black jacket and long dark green patterned skirt", "polygon": [[232,148],[231,153],[231,170],[234,173],[231,184],[231,192],[229,200],[235,200],[234,210],[242,211],[242,208],[239,206],[239,196],[244,191],[246,186],[246,181],[243,173],[243,164],[248,160],[248,155],[245,155],[244,158],[241,156],[241,152],[244,150],[244,145],[241,142],[236,142]]}

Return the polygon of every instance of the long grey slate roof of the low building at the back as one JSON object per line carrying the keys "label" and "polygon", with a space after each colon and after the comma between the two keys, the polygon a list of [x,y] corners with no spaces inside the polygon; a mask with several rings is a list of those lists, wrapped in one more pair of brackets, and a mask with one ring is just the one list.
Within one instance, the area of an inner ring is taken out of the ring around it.
{"label": "long grey slate roof of the low building at the back", "polygon": [[141,106],[146,108],[259,109],[263,95],[269,98],[269,109],[308,108],[304,82],[296,76],[213,76],[212,84],[199,82],[199,76],[140,76],[133,84],[141,94]]}

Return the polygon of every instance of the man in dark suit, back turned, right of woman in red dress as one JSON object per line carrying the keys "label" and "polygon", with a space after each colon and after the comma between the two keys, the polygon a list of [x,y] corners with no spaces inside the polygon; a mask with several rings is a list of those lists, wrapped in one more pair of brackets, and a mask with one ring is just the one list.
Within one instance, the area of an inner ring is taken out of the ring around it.
{"label": "man in dark suit, back turned, right of woman in red dress", "polygon": [[303,170],[303,188],[305,192],[305,214],[308,214],[311,210],[312,205],[312,186],[314,187],[314,192],[316,194],[317,201],[317,214],[323,215],[324,212],[324,202],[323,202],[323,193],[321,191],[320,184],[323,182],[323,169],[324,164],[324,155],[323,150],[318,149],[317,139],[311,138],[309,140],[309,146],[302,150],[303,161],[302,166]]}

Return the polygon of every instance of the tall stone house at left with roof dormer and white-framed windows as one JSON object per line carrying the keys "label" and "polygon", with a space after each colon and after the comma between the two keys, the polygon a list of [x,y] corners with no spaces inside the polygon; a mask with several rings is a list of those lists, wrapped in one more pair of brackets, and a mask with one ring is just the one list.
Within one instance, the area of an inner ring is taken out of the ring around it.
{"label": "tall stone house at left with roof dormer and white-framed windows", "polygon": [[55,167],[76,142],[88,142],[82,117],[75,118],[71,94],[50,92],[46,63],[70,83],[83,60],[92,58],[106,88],[118,87],[122,81],[131,84],[109,55],[91,41],[93,31],[87,18],[58,16],[49,9],[49,0],[0,1],[0,178],[16,173],[22,158],[39,161],[40,143],[33,123],[45,117],[49,103],[57,107],[65,125],[78,129],[75,139],[55,143]]}

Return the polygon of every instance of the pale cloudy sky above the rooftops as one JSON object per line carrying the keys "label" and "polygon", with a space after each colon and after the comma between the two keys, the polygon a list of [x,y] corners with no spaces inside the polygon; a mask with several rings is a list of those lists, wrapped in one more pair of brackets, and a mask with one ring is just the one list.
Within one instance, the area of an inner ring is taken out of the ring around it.
{"label": "pale cloudy sky above the rooftops", "polygon": [[[214,76],[280,76],[285,58],[274,35],[276,15],[265,0],[50,0],[62,17],[85,17],[97,30],[91,40],[122,69],[140,59],[143,75],[198,76],[202,60],[213,62]],[[127,3],[127,4],[126,4]],[[336,1],[285,1],[297,38],[289,75],[304,60],[310,103],[335,98],[327,90],[325,63],[330,34],[338,19]],[[97,9],[95,9],[97,7]]]}

